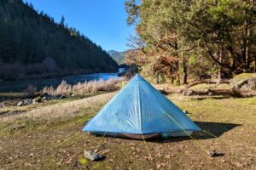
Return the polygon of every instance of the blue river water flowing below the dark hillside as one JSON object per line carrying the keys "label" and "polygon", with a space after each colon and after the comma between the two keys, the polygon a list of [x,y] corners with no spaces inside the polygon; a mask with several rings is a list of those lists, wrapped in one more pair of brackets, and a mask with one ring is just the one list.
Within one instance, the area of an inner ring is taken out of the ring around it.
{"label": "blue river water flowing below the dark hillside", "polygon": [[77,84],[78,82],[89,82],[108,80],[110,78],[118,79],[118,74],[124,72],[123,68],[119,68],[117,73],[95,73],[88,75],[69,76],[69,77],[55,77],[45,79],[33,79],[33,80],[19,80],[19,81],[1,81],[0,80],[0,92],[23,92],[29,85],[36,86],[38,89],[45,86],[58,86],[61,81],[65,80],[68,84]]}

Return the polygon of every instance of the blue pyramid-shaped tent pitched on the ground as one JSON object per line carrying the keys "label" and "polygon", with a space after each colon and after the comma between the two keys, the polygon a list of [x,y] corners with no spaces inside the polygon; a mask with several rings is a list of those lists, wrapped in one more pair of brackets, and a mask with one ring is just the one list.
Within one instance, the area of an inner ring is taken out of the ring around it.
{"label": "blue pyramid-shaped tent pitched on the ground", "polygon": [[[84,132],[186,136],[201,131],[163,94],[136,75],[83,128]],[[129,136],[128,136],[129,137]]]}

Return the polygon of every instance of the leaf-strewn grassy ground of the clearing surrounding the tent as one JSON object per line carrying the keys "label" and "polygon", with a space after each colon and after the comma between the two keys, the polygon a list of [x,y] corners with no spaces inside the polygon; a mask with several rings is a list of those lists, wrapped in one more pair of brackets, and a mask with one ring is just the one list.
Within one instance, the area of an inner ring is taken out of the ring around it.
{"label": "leaf-strewn grassy ground of the clearing surrounding the tent", "polygon": [[[200,127],[216,134],[195,135],[206,150],[224,156],[210,157],[189,138],[140,140],[104,138],[99,147],[104,161],[84,159],[102,137],[82,133],[84,123],[113,95],[66,99],[13,107],[0,123],[0,169],[256,169],[256,98],[168,98],[189,111]],[[21,114],[11,115],[12,111]],[[220,140],[222,139],[222,140]]]}

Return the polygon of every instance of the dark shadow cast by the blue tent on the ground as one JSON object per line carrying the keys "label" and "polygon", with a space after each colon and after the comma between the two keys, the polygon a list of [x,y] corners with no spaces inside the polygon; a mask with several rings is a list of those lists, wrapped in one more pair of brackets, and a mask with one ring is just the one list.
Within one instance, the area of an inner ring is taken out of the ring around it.
{"label": "dark shadow cast by the blue tent on the ground", "polygon": [[[224,122],[195,122],[198,127],[202,130],[212,133],[214,136],[220,137],[224,133],[232,130],[235,127],[241,126],[241,124],[234,123],[224,123]],[[194,139],[215,139],[216,137],[204,132],[192,134]],[[170,143],[170,142],[180,142],[183,140],[191,140],[189,136],[187,137],[170,137],[168,139],[148,139],[148,142],[155,143]]]}

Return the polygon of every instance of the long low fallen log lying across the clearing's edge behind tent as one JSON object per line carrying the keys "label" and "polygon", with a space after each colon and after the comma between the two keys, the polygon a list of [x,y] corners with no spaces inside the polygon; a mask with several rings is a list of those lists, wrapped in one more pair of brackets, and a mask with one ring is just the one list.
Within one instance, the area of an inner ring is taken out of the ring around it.
{"label": "long low fallen log lying across the clearing's edge behind tent", "polygon": [[191,90],[187,88],[169,88],[159,89],[162,94],[183,94],[187,96],[191,95],[223,95],[230,97],[253,97],[256,96],[256,90],[238,90],[238,89],[206,89],[206,90]]}

